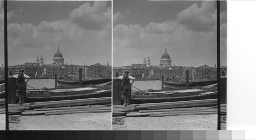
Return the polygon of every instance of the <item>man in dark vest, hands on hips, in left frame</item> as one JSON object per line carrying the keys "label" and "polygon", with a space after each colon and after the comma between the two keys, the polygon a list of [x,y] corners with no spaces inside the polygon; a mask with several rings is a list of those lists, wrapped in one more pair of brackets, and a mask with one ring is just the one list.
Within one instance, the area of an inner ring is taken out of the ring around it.
{"label": "man in dark vest, hands on hips, in left frame", "polygon": [[[24,70],[20,69],[19,74],[13,75],[17,79],[17,84],[18,84],[18,98],[19,104],[25,103],[25,98],[26,98],[26,90],[27,90],[27,82],[29,81],[29,76],[24,74]],[[25,78],[28,79],[25,82]]]}

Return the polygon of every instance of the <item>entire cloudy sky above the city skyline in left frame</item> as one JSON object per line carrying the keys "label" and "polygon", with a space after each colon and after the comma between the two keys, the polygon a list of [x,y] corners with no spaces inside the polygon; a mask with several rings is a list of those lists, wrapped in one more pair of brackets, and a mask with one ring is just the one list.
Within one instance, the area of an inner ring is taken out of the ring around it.
{"label": "entire cloudy sky above the city skyline in left frame", "polygon": [[8,66],[36,62],[41,55],[52,64],[58,46],[65,64],[112,65],[110,1],[8,1],[7,10]]}

